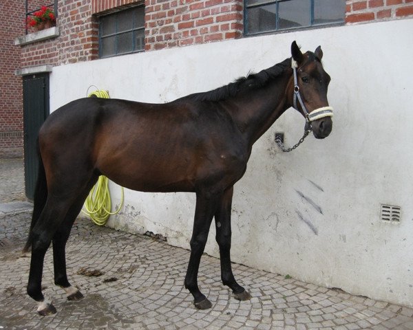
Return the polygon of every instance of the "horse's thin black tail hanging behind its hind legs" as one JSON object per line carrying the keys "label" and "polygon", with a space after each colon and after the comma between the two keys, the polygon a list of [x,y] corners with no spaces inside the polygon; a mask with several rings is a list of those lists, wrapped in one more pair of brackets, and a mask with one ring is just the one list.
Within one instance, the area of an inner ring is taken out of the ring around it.
{"label": "horse's thin black tail hanging behind its hind legs", "polygon": [[41,153],[38,152],[37,154],[39,155],[39,173],[37,176],[36,188],[34,189],[32,223],[30,223],[28,241],[25,243],[23,252],[28,252],[30,246],[32,245],[32,230],[34,228],[34,225],[36,225],[37,220],[39,220],[40,214],[43,211],[47,200],[47,181],[45,166],[43,164],[43,159],[41,159]]}

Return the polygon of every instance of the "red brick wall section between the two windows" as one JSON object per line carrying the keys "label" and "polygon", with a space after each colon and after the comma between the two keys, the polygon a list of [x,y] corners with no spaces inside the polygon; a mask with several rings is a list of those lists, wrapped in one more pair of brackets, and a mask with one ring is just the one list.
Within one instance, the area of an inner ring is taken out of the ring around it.
{"label": "red brick wall section between the two windows", "polygon": [[145,50],[242,36],[242,0],[146,0]]}

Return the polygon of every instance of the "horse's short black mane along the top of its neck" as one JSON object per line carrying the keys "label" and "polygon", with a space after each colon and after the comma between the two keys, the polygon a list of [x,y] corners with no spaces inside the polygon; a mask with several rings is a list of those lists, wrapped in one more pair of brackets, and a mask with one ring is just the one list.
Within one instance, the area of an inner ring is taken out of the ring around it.
{"label": "horse's short black mane along the top of its neck", "polygon": [[268,85],[272,80],[277,78],[284,72],[286,67],[291,65],[291,58],[286,58],[282,63],[278,63],[273,67],[264,69],[257,74],[249,73],[246,77],[237,78],[233,83],[218,87],[212,91],[203,93],[190,94],[179,98],[178,100],[195,100],[195,101],[220,101],[235,96],[240,91],[253,90]]}

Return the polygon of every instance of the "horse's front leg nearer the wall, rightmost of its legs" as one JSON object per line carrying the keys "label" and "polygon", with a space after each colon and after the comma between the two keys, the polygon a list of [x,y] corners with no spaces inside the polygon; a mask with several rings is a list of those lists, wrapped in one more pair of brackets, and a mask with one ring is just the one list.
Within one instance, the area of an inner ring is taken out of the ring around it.
{"label": "horse's front leg nearer the wall, rightmost of its legs", "polygon": [[215,212],[215,239],[220,247],[221,279],[228,285],[234,297],[238,300],[248,300],[251,295],[235,281],[231,268],[231,208],[233,187],[227,189],[220,199],[220,204]]}

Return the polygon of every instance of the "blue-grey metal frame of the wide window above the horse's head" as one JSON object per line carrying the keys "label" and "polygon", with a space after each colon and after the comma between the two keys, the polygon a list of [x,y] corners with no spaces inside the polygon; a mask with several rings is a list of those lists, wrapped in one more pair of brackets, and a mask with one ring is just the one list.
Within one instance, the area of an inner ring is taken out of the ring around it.
{"label": "blue-grey metal frame of the wide window above the horse's head", "polygon": [[[316,28],[329,28],[332,26],[345,25],[346,23],[346,18],[345,18],[346,12],[343,12],[343,21],[328,22],[328,23],[314,23],[315,21],[315,15],[314,15],[315,0],[310,0],[310,13],[309,13],[310,14],[310,25],[279,29],[279,3],[288,2],[292,0],[267,0],[267,1],[262,1],[261,3],[253,3],[252,5],[247,5],[246,4],[247,1],[248,0],[244,0],[244,36],[257,36],[257,35],[262,35],[262,34],[285,33],[285,32],[290,32],[294,30],[312,30]],[[260,7],[263,7],[264,5],[273,5],[273,4],[277,5],[276,11],[275,11],[275,17],[276,17],[275,29],[259,31],[259,32],[248,32],[248,14],[247,14],[248,9],[260,8]]]}

